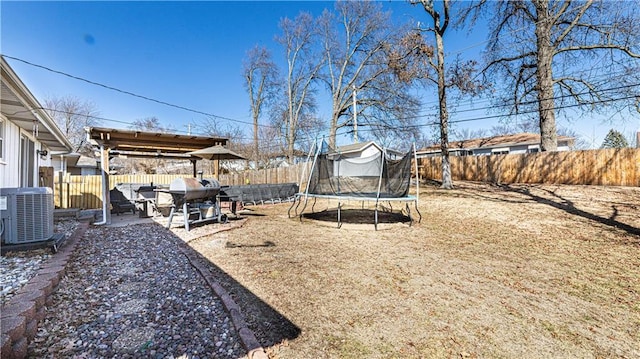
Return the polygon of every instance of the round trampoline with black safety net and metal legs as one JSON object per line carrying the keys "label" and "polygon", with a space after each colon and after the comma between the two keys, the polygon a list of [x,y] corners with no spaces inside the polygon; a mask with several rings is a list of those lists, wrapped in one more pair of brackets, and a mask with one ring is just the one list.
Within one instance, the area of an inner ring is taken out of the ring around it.
{"label": "round trampoline with black safety net and metal legs", "polygon": [[[337,225],[342,226],[341,208],[345,201],[374,202],[374,227],[378,229],[378,211],[381,203],[387,202],[393,211],[392,203],[404,204],[410,225],[414,222],[411,204],[418,215],[417,222],[422,221],[418,210],[418,181],[416,195],[409,195],[411,186],[411,160],[416,158],[415,145],[401,158],[393,158],[382,148],[379,153],[370,156],[353,156],[342,154],[329,147],[326,142],[315,146],[309,180],[304,192],[297,193],[288,211],[289,218],[298,216],[302,221],[309,200],[313,201],[314,211],[318,199],[337,200]],[[417,167],[417,161],[415,161]],[[417,168],[416,168],[417,173]],[[302,178],[305,174],[302,173]],[[302,179],[301,178],[301,179]],[[303,183],[301,180],[300,183]],[[401,207],[402,208],[402,207]]]}

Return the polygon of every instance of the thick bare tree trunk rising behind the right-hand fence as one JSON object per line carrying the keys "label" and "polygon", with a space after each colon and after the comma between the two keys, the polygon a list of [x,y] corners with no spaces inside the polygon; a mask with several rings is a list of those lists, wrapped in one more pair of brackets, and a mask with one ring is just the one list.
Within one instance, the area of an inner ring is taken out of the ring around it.
{"label": "thick bare tree trunk rising behind the right-hand fence", "polygon": [[540,151],[556,151],[555,103],[553,100],[553,46],[551,43],[551,23],[548,2],[534,1],[538,21],[536,23],[538,112],[540,116]]}

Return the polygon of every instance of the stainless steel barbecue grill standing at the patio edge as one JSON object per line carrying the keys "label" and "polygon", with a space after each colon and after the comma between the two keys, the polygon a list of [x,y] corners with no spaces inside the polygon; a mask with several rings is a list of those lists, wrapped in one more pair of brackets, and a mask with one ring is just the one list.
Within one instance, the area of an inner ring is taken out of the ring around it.
{"label": "stainless steel barbecue grill standing at the patio edge", "polygon": [[226,219],[220,211],[220,183],[215,179],[177,178],[171,182],[166,192],[173,199],[167,228],[171,228],[177,211],[182,211],[187,231],[190,224],[210,220],[222,222]]}

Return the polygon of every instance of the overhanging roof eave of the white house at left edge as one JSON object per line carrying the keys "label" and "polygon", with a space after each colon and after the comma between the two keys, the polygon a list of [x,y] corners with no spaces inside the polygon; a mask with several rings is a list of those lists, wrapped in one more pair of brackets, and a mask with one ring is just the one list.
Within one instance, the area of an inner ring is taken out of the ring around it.
{"label": "overhanging roof eave of the white house at left edge", "polygon": [[70,152],[72,146],[69,140],[3,56],[0,56],[0,69],[2,115],[25,131],[35,132],[34,126],[37,125],[36,139],[52,153]]}

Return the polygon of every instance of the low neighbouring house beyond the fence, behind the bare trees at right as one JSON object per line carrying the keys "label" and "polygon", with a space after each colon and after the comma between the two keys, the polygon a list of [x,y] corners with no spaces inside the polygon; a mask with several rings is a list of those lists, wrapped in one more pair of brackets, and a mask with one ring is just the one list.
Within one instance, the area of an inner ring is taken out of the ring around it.
{"label": "low neighbouring house beyond the fence, behind the bare trees at right", "polygon": [[[571,151],[574,139],[558,136],[558,151]],[[540,135],[517,133],[470,140],[449,142],[451,156],[488,156],[540,152]],[[418,158],[440,156],[440,146],[423,148],[416,152]]]}

